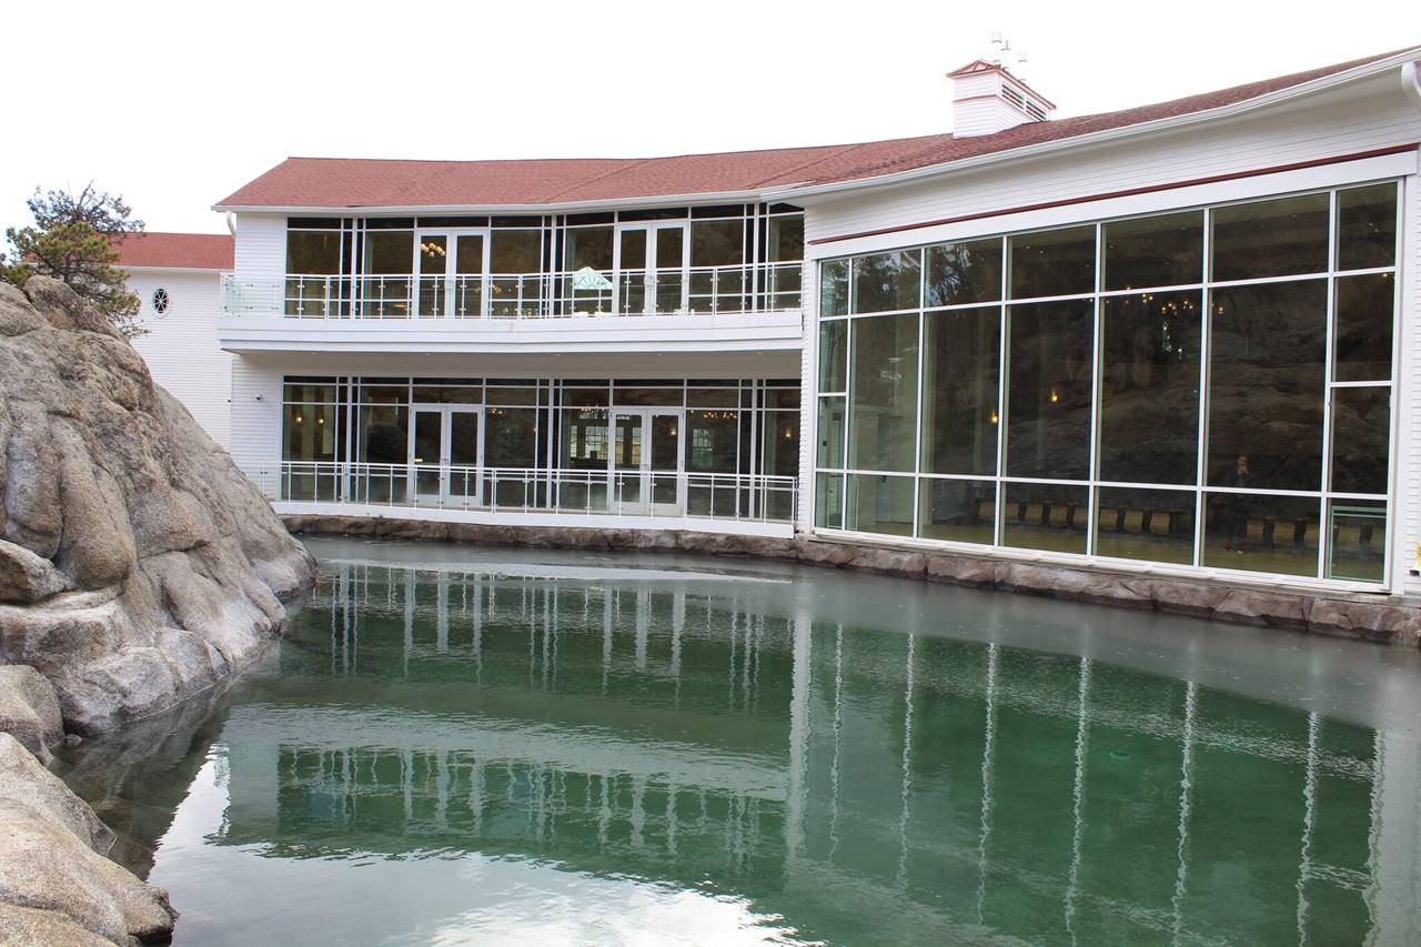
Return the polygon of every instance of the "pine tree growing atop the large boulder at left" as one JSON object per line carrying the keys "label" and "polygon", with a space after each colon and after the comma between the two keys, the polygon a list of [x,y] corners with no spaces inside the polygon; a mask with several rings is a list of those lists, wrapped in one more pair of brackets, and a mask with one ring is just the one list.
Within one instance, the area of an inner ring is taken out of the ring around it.
{"label": "pine tree growing atop the large boulder at left", "polygon": [[34,223],[6,229],[11,256],[0,253],[0,280],[24,286],[34,274],[53,276],[101,311],[125,338],[142,336],[146,330],[138,324],[138,296],[128,291],[128,272],[115,266],[118,245],[144,230],[144,222],[129,216],[132,209],[124,199],[90,183],[78,195],[36,188],[26,203]]}

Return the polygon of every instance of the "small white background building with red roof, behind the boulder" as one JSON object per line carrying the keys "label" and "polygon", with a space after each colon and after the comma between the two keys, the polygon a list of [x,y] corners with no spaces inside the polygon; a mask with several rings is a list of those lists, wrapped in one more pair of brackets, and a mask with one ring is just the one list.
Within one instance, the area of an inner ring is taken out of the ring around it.
{"label": "small white background building with red roof, behind the boulder", "polygon": [[222,446],[232,422],[232,355],[219,343],[216,314],[232,247],[232,236],[217,233],[141,233],[117,246],[148,330],[134,347]]}

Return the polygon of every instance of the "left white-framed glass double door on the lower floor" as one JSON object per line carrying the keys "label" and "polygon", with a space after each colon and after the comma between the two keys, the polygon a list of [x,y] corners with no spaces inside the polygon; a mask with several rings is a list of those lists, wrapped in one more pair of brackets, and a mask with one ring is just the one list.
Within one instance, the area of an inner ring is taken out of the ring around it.
{"label": "left white-framed glass double door on the lower floor", "polygon": [[483,482],[483,408],[411,408],[409,492],[431,506],[477,506]]}

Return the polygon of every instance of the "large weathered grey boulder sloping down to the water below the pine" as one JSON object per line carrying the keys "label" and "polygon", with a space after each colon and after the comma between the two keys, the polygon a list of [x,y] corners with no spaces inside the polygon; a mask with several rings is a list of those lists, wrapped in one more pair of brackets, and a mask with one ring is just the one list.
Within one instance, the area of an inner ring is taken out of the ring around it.
{"label": "large weathered grey boulder sloping down to the water below the pine", "polygon": [[314,577],[261,493],[63,283],[0,284],[0,664],[111,729],[247,664]]}

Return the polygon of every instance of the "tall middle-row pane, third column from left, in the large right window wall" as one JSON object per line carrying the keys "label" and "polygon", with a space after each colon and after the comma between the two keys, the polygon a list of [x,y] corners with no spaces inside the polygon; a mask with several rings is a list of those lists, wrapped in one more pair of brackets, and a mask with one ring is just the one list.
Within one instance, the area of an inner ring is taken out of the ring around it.
{"label": "tall middle-row pane, third column from left, in the large right window wall", "polygon": [[922,469],[996,474],[1002,310],[929,313],[922,364]]}

